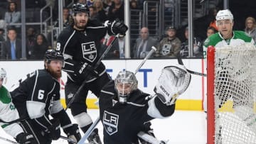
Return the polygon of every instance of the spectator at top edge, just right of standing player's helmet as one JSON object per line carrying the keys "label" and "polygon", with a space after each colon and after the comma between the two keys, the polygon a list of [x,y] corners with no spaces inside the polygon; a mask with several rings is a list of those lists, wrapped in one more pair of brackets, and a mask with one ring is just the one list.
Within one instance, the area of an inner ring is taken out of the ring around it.
{"label": "spectator at top edge, just right of standing player's helmet", "polygon": [[97,18],[99,18],[100,22],[104,22],[107,20],[107,15],[103,9],[103,3],[102,0],[95,0],[93,3],[93,6],[96,9],[97,12]]}

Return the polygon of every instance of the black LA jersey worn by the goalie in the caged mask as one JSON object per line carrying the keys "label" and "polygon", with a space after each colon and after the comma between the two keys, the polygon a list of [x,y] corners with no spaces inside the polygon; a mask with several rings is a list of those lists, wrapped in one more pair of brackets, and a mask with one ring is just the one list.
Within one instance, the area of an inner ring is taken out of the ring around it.
{"label": "black LA jersey worn by the goalie in the caged mask", "polygon": [[145,129],[144,123],[174,113],[175,105],[166,106],[156,96],[149,97],[137,89],[128,96],[127,104],[121,104],[117,101],[114,81],[105,85],[99,100],[105,144],[136,143],[137,133]]}

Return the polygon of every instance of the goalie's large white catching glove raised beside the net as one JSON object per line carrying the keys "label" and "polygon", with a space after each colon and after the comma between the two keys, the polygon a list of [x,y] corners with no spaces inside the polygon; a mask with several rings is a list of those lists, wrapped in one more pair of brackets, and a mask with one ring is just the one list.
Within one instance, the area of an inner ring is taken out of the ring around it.
{"label": "goalie's large white catching glove raised beside the net", "polygon": [[164,104],[171,105],[180,94],[186,91],[190,82],[191,74],[183,65],[164,67],[154,92]]}

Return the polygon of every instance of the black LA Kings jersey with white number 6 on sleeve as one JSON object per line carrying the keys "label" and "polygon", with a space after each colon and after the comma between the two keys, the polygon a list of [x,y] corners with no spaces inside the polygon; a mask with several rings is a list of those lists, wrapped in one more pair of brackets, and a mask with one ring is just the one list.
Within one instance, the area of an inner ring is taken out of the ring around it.
{"label": "black LA Kings jersey with white number 6 on sleeve", "polygon": [[63,110],[60,104],[60,84],[46,70],[27,74],[12,89],[13,103],[21,119],[34,119],[43,131],[51,125],[49,114]]}

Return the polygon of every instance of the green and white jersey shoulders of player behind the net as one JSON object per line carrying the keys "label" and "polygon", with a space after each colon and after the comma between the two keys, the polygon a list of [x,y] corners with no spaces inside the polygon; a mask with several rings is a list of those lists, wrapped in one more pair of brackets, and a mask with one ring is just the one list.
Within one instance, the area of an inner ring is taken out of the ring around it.
{"label": "green and white jersey shoulders of player behind the net", "polygon": [[225,45],[242,45],[243,43],[251,43],[252,45],[255,44],[254,40],[245,34],[243,31],[233,31],[233,38],[225,40],[220,33],[215,33],[207,38],[204,42],[203,47],[203,57],[206,58],[207,55],[207,48],[210,45],[213,45],[215,48],[223,47]]}

